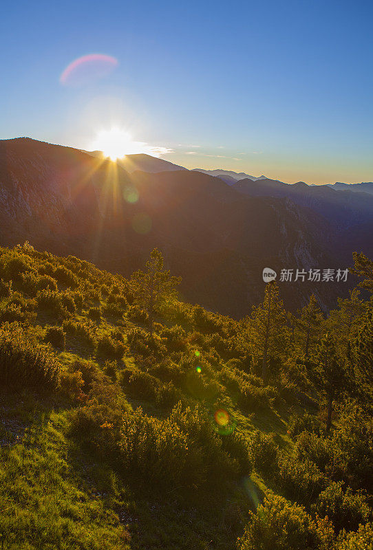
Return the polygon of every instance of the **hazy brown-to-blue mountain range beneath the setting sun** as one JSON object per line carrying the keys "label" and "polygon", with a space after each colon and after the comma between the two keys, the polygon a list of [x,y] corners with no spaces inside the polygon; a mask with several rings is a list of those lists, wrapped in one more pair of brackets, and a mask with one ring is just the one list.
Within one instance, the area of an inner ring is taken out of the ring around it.
{"label": "hazy brown-to-blue mountain range beneath the setting sun", "polygon": [[[184,299],[235,317],[262,300],[264,267],[278,274],[282,268],[337,269],[351,265],[354,250],[373,256],[369,192],[242,174],[227,185],[222,175],[149,155],[113,164],[96,152],[2,140],[0,244],[28,240],[125,275],[158,247],[182,276]],[[311,292],[333,307],[350,285],[280,283],[290,309]]]}

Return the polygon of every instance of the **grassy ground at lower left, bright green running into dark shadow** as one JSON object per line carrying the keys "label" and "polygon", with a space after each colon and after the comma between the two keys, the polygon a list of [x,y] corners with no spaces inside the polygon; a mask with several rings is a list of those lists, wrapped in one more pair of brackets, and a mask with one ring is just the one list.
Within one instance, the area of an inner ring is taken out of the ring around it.
{"label": "grassy ground at lower left, bright green running into dark shadow", "polygon": [[244,483],[204,492],[119,478],[67,437],[63,403],[3,400],[23,436],[0,449],[0,548],[230,550],[242,529],[234,503],[250,505]]}

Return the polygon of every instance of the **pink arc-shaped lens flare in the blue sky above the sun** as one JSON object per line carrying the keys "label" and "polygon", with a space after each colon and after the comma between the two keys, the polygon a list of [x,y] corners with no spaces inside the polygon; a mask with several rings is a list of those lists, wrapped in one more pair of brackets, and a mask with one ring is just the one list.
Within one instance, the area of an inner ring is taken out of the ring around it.
{"label": "pink arc-shaped lens flare in the blue sky above the sun", "polygon": [[111,73],[118,65],[115,57],[105,54],[89,54],[72,61],[60,76],[64,86],[82,86]]}

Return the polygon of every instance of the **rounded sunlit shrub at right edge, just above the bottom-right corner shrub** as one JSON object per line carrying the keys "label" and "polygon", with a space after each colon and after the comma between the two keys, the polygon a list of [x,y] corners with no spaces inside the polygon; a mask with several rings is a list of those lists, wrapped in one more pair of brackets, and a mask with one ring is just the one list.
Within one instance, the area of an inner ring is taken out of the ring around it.
{"label": "rounded sunlit shrub at right edge, just above the bottom-right corner shrub", "polygon": [[343,483],[332,483],[317,498],[312,510],[319,516],[328,516],[337,531],[356,530],[361,523],[372,519],[372,509],[360,493],[354,494],[350,487],[343,491]]}

